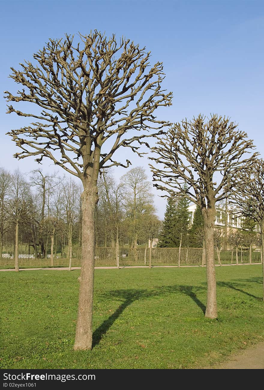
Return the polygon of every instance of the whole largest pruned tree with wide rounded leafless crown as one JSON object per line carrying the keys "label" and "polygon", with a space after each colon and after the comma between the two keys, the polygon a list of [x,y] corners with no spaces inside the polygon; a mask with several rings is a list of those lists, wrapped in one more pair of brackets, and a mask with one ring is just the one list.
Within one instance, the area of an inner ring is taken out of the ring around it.
{"label": "whole largest pruned tree with wide rounded leafless crown", "polygon": [[91,349],[99,170],[129,167],[129,160],[113,160],[122,147],[142,155],[139,145],[147,145],[147,137],[168,125],[153,114],[172,104],[172,93],[161,89],[163,65],[149,67],[145,48],[124,38],[118,43],[115,35],[107,39],[97,30],[80,39],[76,45],[67,34],[64,40],[50,39],[33,55],[34,64],[25,61],[21,70],[11,68],[10,77],[22,89],[5,94],[9,102],[40,108],[39,113],[25,113],[8,106],[7,113],[35,120],[7,133],[22,149],[15,157],[35,156],[38,163],[47,157],[82,181],[82,270],[74,349]]}

